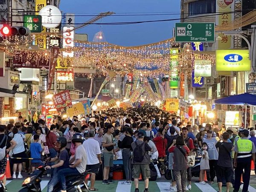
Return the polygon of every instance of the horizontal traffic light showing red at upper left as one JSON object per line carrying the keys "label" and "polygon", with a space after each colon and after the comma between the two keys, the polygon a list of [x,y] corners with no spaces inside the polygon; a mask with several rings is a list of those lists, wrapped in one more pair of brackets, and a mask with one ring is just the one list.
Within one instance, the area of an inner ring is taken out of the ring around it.
{"label": "horizontal traffic light showing red at upper left", "polygon": [[30,33],[29,28],[24,26],[3,26],[0,29],[0,32],[4,36],[12,36],[12,35],[19,35],[19,36],[27,36]]}

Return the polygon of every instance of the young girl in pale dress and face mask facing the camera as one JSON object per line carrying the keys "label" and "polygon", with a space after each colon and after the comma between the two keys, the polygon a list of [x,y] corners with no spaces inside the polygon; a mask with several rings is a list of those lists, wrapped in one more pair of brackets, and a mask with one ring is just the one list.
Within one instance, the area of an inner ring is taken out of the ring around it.
{"label": "young girl in pale dress and face mask facing the camera", "polygon": [[202,143],[202,158],[200,161],[200,183],[201,185],[205,185],[206,183],[204,182],[204,173],[210,169],[209,167],[209,155],[208,155],[208,146],[207,143]]}

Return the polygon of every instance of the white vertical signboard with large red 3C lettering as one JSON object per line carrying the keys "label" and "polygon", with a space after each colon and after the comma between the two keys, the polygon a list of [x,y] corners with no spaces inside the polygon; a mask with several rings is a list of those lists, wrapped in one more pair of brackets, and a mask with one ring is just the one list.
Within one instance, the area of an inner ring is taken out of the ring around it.
{"label": "white vertical signboard with large red 3C lettering", "polygon": [[[70,48],[74,47],[74,27],[63,27],[63,48]],[[64,57],[73,57],[74,52],[73,51],[64,51],[63,52]]]}

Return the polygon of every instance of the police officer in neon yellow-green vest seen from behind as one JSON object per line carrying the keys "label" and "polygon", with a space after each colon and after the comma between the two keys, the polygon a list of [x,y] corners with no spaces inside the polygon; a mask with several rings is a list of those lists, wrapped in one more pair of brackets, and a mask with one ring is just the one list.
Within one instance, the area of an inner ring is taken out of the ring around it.
{"label": "police officer in neon yellow-green vest seen from behind", "polygon": [[234,157],[234,167],[235,169],[235,186],[233,192],[238,192],[240,188],[241,175],[244,170],[243,181],[244,186],[242,192],[248,191],[249,181],[250,181],[250,166],[251,159],[255,162],[255,152],[256,148],[250,140],[248,140],[249,131],[244,129],[239,131],[241,139],[237,140],[235,145],[235,157]]}

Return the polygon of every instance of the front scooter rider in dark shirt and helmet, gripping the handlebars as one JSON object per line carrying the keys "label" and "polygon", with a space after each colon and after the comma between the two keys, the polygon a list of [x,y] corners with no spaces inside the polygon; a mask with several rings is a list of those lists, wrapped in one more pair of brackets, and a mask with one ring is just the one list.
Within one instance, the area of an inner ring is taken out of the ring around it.
{"label": "front scooter rider in dark shirt and helmet, gripping the handlebars", "polygon": [[66,150],[67,139],[65,137],[58,137],[55,146],[59,149],[59,152],[56,157],[50,158],[49,162],[55,162],[58,160],[58,163],[45,167],[45,169],[54,169],[53,177],[48,183],[47,192],[53,192],[54,186],[60,181],[57,177],[58,171],[69,167],[69,154]]}

